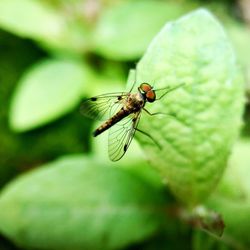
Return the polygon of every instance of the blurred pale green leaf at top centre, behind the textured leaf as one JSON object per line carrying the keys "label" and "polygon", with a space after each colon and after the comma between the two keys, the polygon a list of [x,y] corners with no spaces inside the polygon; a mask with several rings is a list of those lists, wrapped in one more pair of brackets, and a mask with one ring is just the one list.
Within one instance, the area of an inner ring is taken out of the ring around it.
{"label": "blurred pale green leaf at top centre, behind the textured leaf", "polygon": [[94,50],[115,60],[139,58],[166,21],[187,8],[174,1],[124,1],[103,10],[94,32]]}

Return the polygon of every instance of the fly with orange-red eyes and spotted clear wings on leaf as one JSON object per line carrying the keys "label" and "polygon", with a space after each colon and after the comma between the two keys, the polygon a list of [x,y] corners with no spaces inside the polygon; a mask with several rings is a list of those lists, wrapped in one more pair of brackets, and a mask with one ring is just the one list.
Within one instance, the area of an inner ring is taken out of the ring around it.
{"label": "fly with orange-red eyes and spotted clear wings on leaf", "polygon": [[[108,151],[109,158],[112,161],[120,160],[135,135],[135,132],[141,132],[148,136],[159,147],[160,145],[148,133],[140,130],[138,124],[142,111],[149,115],[162,113],[150,113],[146,108],[146,103],[153,103],[161,99],[170,91],[179,88],[183,84],[175,87],[166,87],[154,90],[149,83],[141,83],[137,93],[132,93],[135,83],[129,92],[110,93],[91,97],[82,101],[80,112],[82,115],[95,120],[104,120],[93,133],[98,136],[109,129]],[[158,90],[166,90],[159,98],[156,98]]]}

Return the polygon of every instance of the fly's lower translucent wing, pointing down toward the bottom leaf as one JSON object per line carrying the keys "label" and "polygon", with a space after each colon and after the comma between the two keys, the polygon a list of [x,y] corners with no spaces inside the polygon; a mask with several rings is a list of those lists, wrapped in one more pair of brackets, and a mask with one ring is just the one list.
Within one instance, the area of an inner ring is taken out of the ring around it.
{"label": "fly's lower translucent wing, pointing down toward the bottom leaf", "polygon": [[109,158],[120,160],[126,153],[138,126],[141,112],[131,114],[109,129]]}

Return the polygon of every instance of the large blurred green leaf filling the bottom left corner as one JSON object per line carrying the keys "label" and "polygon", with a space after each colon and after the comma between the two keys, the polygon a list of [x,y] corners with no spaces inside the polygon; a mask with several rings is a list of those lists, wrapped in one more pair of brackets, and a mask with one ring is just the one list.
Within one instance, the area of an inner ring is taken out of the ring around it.
{"label": "large blurred green leaf filling the bottom left corner", "polygon": [[81,156],[21,176],[0,196],[0,231],[32,249],[117,249],[152,235],[165,217],[158,188]]}

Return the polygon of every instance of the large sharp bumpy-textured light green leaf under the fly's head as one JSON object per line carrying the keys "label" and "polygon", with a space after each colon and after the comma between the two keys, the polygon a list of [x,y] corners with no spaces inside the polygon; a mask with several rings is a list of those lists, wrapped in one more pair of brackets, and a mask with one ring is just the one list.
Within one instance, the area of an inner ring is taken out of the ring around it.
{"label": "large sharp bumpy-textured light green leaf under the fly's head", "polygon": [[168,23],[138,63],[136,79],[155,89],[185,84],[146,105],[169,116],[141,118],[140,129],[162,150],[137,134],[175,195],[186,204],[200,203],[227,165],[244,106],[242,75],[224,29],[204,9]]}

